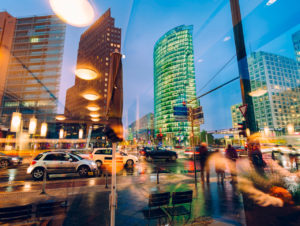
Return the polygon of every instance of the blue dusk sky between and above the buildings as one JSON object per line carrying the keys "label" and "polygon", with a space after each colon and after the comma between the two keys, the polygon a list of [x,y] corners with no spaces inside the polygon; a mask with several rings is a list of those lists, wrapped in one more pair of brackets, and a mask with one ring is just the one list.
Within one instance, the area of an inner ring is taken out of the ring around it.
{"label": "blue dusk sky between and above the buildings", "polygon": [[[116,26],[122,29],[122,53],[126,55],[123,61],[124,114],[128,114],[129,123],[136,118],[137,99],[140,116],[153,112],[153,48],[164,33],[176,26],[194,26],[198,95],[238,76],[229,0],[91,2],[97,18],[111,8]],[[15,17],[53,13],[47,0],[0,0],[0,3],[1,11],[6,10]],[[262,50],[294,58],[291,35],[300,30],[299,0],[240,0],[240,5],[248,54]],[[59,95],[62,105],[66,89],[74,83],[79,39],[86,29],[67,26]],[[202,128],[230,128],[230,106],[240,102],[239,81],[202,98],[205,117]],[[124,123],[126,125],[126,120]]]}

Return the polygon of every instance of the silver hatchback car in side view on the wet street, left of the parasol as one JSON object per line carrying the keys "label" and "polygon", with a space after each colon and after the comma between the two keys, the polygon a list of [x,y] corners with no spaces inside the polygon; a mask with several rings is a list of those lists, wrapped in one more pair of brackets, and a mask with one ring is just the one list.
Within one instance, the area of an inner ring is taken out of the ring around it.
{"label": "silver hatchback car in side view on the wet street, left of the parasol", "polygon": [[78,173],[81,177],[87,177],[89,172],[96,173],[97,165],[92,160],[64,151],[44,152],[34,158],[27,168],[27,174],[31,174],[35,180],[41,180],[45,171],[48,175]]}

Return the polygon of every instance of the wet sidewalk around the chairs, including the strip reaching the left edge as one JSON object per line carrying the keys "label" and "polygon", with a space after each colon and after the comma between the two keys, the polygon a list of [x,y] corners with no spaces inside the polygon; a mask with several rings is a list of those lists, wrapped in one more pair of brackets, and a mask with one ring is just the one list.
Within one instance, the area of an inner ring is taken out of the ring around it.
{"label": "wet sidewalk around the chairs, including the strip reaching the left edge", "polygon": [[[160,184],[156,175],[128,177],[117,185],[118,207],[116,225],[156,225],[148,222],[142,214],[147,209],[148,197],[153,192],[193,190],[191,218],[186,225],[244,225],[245,215],[241,196],[229,182],[224,186],[211,178],[209,185],[198,183],[197,189],[189,176],[161,174]],[[63,225],[109,225],[109,193],[104,185],[47,189],[48,195],[35,192],[0,194],[7,205],[20,205],[48,199],[68,199],[69,209]],[[175,225],[182,225],[183,217],[175,218]]]}

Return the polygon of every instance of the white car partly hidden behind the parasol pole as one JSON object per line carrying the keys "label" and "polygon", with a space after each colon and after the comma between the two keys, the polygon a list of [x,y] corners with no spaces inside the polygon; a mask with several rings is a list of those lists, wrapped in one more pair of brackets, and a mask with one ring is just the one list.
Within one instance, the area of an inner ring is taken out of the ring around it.
{"label": "white car partly hidden behind the parasol pole", "polygon": [[[138,162],[138,158],[134,155],[128,155],[124,152],[117,152],[116,157],[121,158],[124,166],[132,167]],[[100,168],[102,164],[111,162],[112,148],[95,148],[92,153],[92,159],[96,162],[97,167]]]}

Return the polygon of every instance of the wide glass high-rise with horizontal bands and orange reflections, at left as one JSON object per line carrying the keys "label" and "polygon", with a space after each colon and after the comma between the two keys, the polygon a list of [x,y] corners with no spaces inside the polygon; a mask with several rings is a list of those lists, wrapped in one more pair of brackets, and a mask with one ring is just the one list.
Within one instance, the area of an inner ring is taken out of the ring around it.
{"label": "wide glass high-rise with horizontal bands and orange reflections, at left", "polygon": [[44,120],[56,114],[65,30],[54,15],[17,18],[2,99],[4,117],[16,110]]}

